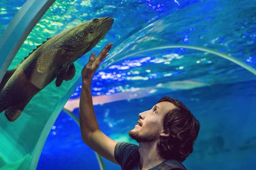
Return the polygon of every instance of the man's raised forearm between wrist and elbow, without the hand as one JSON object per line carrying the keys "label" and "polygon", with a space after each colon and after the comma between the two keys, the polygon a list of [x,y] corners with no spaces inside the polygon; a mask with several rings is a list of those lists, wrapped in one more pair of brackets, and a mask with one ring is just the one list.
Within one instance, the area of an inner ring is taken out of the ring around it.
{"label": "man's raised forearm between wrist and elbow, without the hand", "polygon": [[79,103],[79,122],[81,136],[84,142],[90,139],[93,132],[99,130],[99,125],[93,109],[91,81],[83,81]]}

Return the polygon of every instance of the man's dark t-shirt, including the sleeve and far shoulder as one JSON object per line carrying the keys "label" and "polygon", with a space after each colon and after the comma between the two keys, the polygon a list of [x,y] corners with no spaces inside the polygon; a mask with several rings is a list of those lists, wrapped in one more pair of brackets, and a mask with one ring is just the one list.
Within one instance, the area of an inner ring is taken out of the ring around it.
{"label": "man's dark t-shirt, including the sleeve and far shoulder", "polygon": [[[118,142],[115,147],[114,156],[122,170],[140,170],[138,145]],[[186,170],[186,168],[179,161],[165,160],[149,170]]]}

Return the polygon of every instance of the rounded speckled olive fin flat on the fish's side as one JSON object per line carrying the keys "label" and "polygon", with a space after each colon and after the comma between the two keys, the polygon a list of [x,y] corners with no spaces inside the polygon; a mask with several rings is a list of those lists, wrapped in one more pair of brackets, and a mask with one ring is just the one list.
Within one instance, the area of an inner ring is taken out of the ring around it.
{"label": "rounded speckled olive fin flat on the fish's side", "polygon": [[40,56],[37,61],[37,71],[39,73],[45,73],[47,70],[51,69],[54,63],[53,59],[52,54],[43,54]]}

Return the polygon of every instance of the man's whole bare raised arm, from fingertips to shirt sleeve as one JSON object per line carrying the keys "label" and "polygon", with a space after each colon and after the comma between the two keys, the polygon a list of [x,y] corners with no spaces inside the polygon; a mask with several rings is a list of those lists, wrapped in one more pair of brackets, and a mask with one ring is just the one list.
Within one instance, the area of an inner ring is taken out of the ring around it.
{"label": "man's whole bare raised arm, from fingertips to shirt sleeve", "polygon": [[93,99],[91,95],[92,77],[105,57],[111,49],[112,43],[105,46],[95,58],[95,54],[91,54],[89,62],[82,70],[82,88],[79,104],[79,121],[81,137],[84,143],[99,153],[104,158],[118,164],[114,156],[114,150],[117,142],[110,139],[99,129],[98,122],[93,109]]}

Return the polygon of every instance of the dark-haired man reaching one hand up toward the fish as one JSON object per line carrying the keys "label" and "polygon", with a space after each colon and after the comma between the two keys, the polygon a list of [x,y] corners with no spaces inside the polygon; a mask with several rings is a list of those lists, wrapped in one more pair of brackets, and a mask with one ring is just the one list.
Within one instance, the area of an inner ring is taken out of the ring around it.
{"label": "dark-haired man reaching one hand up toward the fish", "polygon": [[81,136],[84,143],[122,170],[186,170],[183,162],[193,150],[200,124],[176,99],[164,97],[149,111],[139,114],[138,125],[129,136],[139,143],[115,142],[99,129],[93,110],[92,77],[111,49],[105,46],[95,58],[91,54],[82,70],[79,105]]}

